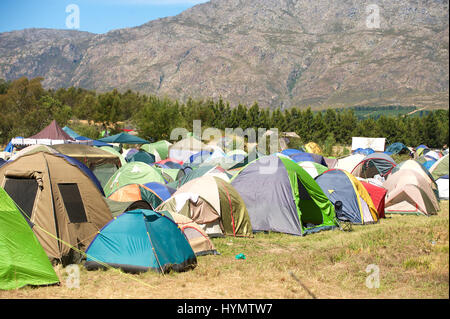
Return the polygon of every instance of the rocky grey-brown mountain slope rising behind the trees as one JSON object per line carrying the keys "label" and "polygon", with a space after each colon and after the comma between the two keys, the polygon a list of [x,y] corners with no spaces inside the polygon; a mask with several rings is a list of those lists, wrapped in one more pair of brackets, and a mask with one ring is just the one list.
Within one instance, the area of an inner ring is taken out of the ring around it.
{"label": "rocky grey-brown mountain slope rising behind the trees", "polygon": [[448,0],[211,0],[106,34],[0,34],[0,78],[262,107],[449,106]]}

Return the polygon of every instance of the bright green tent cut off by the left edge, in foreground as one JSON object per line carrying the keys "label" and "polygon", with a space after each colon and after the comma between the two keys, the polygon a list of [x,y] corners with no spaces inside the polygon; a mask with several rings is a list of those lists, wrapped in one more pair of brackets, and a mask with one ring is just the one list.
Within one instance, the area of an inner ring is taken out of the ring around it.
{"label": "bright green tent cut off by the left edge, in foreground", "polygon": [[0,187],[0,289],[58,282],[47,254],[27,221]]}

